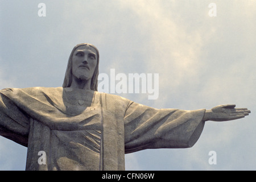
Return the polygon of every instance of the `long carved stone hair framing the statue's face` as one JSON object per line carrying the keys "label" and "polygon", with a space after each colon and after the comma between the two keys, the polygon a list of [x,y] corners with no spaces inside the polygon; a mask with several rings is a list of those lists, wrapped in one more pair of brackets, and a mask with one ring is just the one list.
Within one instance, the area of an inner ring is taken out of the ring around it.
{"label": "long carved stone hair framing the statue's face", "polygon": [[71,82],[72,82],[72,57],[73,57],[73,53],[75,52],[76,48],[78,48],[80,46],[90,46],[90,47],[92,47],[96,50],[97,65],[96,65],[96,68],[95,68],[94,73],[93,73],[92,81],[91,81],[91,84],[90,84],[90,89],[94,90],[94,91],[98,91],[98,63],[99,63],[99,60],[100,60],[100,54],[98,52],[98,49],[95,46],[93,46],[92,44],[88,44],[88,43],[77,44],[73,48],[73,50],[72,50],[72,52],[69,56],[69,59],[68,59],[68,66],[67,66],[67,69],[66,69],[65,78],[64,78],[64,82],[63,82],[62,86],[64,88],[71,86]]}

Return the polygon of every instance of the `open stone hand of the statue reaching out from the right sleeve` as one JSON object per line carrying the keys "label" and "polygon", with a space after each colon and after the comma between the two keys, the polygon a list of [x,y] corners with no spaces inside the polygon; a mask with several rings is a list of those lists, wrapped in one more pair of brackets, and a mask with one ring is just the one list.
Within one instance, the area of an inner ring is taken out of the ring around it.
{"label": "open stone hand of the statue reaching out from the right sleeve", "polygon": [[205,111],[203,121],[230,121],[244,118],[251,113],[247,108],[235,108],[236,105],[219,105]]}

